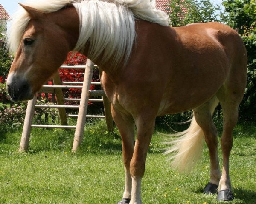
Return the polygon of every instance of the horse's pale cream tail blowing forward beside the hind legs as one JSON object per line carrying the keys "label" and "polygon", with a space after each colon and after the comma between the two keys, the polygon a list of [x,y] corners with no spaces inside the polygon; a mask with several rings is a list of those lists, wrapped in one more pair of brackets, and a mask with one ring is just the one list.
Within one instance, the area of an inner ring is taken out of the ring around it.
{"label": "horse's pale cream tail blowing forward beside the hind legs", "polygon": [[[218,99],[215,99],[210,105],[211,114],[213,114],[217,105]],[[167,142],[167,144],[172,144],[172,146],[168,147],[164,154],[173,153],[169,158],[169,160],[172,160],[171,166],[180,172],[189,173],[201,158],[204,145],[203,130],[195,121],[195,116],[193,116],[187,130],[172,134],[171,136],[175,136],[175,139],[172,137],[173,140]]]}

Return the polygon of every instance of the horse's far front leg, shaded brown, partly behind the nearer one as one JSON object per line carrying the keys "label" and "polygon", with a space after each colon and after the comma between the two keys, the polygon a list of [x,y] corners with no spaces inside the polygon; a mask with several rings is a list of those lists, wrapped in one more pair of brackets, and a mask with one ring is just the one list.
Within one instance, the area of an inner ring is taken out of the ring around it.
{"label": "horse's far front leg, shaded brown, partly behind the nearer one", "polygon": [[117,204],[128,204],[131,200],[130,162],[134,152],[134,119],[115,110],[113,106],[111,106],[111,112],[122,137],[122,153],[125,166],[125,192],[122,201]]}

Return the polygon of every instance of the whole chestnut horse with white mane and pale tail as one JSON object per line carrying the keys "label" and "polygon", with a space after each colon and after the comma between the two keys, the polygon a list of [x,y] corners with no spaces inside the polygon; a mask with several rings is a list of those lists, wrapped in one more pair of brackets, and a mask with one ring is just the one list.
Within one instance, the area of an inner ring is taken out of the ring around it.
{"label": "whole chestnut horse with white mane and pale tail", "polygon": [[[140,189],[155,119],[193,111],[188,130],[172,141],[172,166],[189,171],[203,140],[210,157],[204,193],[233,199],[229,156],[246,87],[247,53],[227,25],[209,22],[170,27],[149,0],[31,0],[20,4],[8,33],[16,53],[7,89],[13,101],[32,99],[64,62],[79,51],[103,70],[101,82],[122,137],[125,188],[118,204],[141,204]],[[222,173],[217,130],[221,104]],[[135,139],[134,128],[137,131]]]}

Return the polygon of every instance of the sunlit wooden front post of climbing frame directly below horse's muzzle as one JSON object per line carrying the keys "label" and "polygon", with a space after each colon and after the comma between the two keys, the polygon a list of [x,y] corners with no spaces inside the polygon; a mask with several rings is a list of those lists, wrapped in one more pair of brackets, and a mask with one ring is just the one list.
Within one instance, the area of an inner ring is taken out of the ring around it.
{"label": "sunlit wooden front post of climbing frame directly below horse's muzzle", "polygon": [[33,122],[34,111],[35,111],[35,103],[36,103],[36,96],[34,96],[34,99],[29,100],[28,102],[22,136],[20,140],[20,150],[19,150],[20,152],[23,152],[23,151],[27,152],[29,148],[29,137],[31,132],[31,125]]}

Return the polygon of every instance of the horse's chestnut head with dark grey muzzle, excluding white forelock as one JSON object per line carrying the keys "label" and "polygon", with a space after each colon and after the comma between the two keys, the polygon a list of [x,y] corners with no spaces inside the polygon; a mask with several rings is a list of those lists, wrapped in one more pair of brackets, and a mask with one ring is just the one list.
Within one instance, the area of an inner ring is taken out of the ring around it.
{"label": "horse's chestnut head with dark grey muzzle, excluding white forelock", "polygon": [[[29,6],[21,6],[30,20],[19,45],[17,44],[15,59],[7,79],[8,93],[15,102],[32,99],[76,44],[74,37],[67,33],[69,23],[64,26],[63,17],[61,19],[58,12],[44,13]],[[78,33],[72,32],[78,36]]]}

